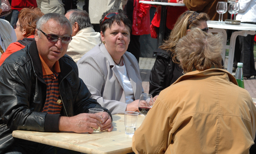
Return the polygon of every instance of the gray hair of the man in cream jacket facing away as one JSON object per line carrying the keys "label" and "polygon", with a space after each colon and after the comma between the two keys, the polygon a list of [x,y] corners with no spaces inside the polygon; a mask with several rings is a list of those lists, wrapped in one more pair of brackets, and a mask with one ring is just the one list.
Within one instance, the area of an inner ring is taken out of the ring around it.
{"label": "gray hair of the man in cream jacket facing away", "polygon": [[93,28],[89,14],[85,10],[72,9],[68,10],[67,13],[71,11],[72,13],[69,15],[69,21],[71,25],[74,25],[75,22],[77,22],[79,26],[79,31],[87,27]]}

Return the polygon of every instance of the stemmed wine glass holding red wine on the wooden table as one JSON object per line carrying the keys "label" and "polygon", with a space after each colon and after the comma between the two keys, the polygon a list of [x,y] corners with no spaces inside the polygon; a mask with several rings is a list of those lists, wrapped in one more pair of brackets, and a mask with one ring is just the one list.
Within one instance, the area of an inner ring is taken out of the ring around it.
{"label": "stemmed wine glass holding red wine on the wooden table", "polygon": [[148,111],[152,108],[153,97],[150,94],[141,94],[138,103],[138,110],[141,114],[147,115]]}

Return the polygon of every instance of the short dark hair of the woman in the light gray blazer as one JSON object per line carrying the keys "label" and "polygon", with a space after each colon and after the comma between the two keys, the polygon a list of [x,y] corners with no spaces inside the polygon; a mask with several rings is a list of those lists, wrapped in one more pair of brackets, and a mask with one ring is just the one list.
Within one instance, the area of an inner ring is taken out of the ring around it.
{"label": "short dark hair of the woman in the light gray blazer", "polygon": [[[105,16],[109,13],[118,13],[118,14],[111,17],[110,19],[105,19],[105,21],[103,22]],[[121,9],[118,9],[118,10],[110,9],[107,12],[103,13],[101,19],[99,20],[100,31],[104,33],[106,28],[107,27],[111,28],[114,22],[117,22],[118,25],[121,25],[121,23],[123,22],[125,26],[129,27],[129,32],[131,33],[131,20],[127,18],[125,11]]]}

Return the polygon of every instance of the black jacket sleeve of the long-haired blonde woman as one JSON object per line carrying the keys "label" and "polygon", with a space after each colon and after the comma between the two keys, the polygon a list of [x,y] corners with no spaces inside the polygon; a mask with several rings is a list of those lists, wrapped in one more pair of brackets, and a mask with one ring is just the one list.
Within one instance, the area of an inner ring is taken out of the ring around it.
{"label": "black jacket sleeve of the long-haired blonde woman", "polygon": [[162,90],[169,86],[164,80],[166,78],[166,67],[168,67],[167,59],[162,56],[157,56],[149,76],[149,94],[153,97],[159,95]]}

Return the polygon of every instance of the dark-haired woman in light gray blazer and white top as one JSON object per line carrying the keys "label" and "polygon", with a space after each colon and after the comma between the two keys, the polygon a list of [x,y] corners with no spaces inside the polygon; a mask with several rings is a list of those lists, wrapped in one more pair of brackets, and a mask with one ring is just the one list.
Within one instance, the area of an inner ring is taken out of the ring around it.
{"label": "dark-haired woman in light gray blazer and white top", "polygon": [[121,9],[109,10],[100,20],[102,43],[79,61],[79,77],[96,99],[111,114],[138,111],[144,92],[136,58],[127,52],[131,21]]}

